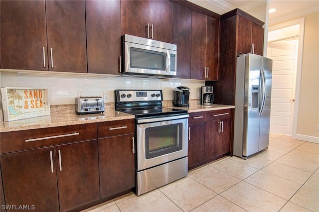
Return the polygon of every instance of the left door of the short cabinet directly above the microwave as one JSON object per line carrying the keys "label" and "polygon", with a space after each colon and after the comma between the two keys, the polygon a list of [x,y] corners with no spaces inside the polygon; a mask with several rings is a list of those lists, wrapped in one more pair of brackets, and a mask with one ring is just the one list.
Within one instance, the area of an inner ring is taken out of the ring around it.
{"label": "left door of the short cabinet directly above the microwave", "polygon": [[121,31],[139,37],[147,37],[149,22],[148,0],[121,0]]}

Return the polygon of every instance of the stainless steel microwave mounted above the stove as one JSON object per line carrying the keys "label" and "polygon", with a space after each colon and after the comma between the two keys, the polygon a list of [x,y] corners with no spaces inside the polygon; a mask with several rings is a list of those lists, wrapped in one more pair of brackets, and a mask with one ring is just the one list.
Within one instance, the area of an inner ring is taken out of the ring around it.
{"label": "stainless steel microwave mounted above the stove", "polygon": [[122,66],[124,76],[171,78],[176,76],[175,44],[124,34]]}

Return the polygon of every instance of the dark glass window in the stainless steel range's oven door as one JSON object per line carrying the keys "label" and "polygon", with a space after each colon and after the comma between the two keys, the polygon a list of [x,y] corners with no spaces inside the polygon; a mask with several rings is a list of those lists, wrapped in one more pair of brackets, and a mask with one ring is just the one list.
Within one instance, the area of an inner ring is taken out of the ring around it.
{"label": "dark glass window in the stainless steel range's oven door", "polygon": [[182,149],[182,123],[145,129],[146,159]]}

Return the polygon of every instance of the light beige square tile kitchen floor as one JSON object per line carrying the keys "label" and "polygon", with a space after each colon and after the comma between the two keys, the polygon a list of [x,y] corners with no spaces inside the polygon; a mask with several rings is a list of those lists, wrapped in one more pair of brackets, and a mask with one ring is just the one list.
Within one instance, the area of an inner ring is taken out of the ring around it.
{"label": "light beige square tile kitchen floor", "polygon": [[269,148],[225,157],[137,197],[85,212],[319,212],[319,144],[271,134]]}

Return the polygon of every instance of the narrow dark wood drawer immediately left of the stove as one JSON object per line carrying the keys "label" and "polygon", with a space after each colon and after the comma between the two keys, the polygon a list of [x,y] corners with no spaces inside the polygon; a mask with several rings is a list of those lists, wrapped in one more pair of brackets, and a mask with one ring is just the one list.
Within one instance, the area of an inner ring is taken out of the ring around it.
{"label": "narrow dark wood drawer immediately left of the stove", "polygon": [[98,137],[111,137],[134,133],[134,119],[98,123]]}

